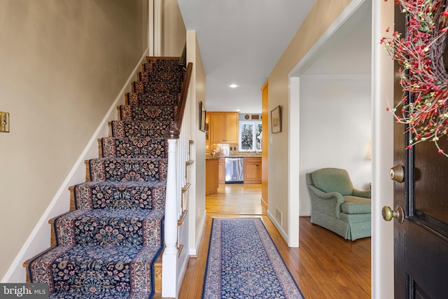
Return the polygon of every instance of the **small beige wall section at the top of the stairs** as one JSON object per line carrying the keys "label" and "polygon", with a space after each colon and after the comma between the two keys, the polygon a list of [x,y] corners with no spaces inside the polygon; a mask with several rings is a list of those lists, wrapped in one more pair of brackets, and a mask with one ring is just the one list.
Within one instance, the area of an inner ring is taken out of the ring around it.
{"label": "small beige wall section at the top of the stairs", "polygon": [[162,1],[161,39],[161,56],[181,56],[186,43],[186,28],[177,0]]}

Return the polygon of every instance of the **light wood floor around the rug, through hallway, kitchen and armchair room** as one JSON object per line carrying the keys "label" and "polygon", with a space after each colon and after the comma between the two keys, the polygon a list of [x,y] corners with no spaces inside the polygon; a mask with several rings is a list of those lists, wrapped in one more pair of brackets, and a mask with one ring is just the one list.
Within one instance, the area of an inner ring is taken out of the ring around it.
{"label": "light wood floor around the rug, through hallway, kitchen and armchair room", "polygon": [[370,298],[370,238],[354,242],[300,217],[300,247],[289,248],[260,205],[260,185],[219,185],[207,196],[207,220],[197,257],[190,258],[179,299],[201,298],[213,217],[261,217],[307,299]]}

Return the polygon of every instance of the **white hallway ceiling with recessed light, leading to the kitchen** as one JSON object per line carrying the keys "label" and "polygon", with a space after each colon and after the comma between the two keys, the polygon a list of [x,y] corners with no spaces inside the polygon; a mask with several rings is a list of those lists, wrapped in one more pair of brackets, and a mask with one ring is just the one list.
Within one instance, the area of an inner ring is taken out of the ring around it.
{"label": "white hallway ceiling with recessed light, leading to the kitchen", "polygon": [[196,30],[206,109],[261,113],[260,88],[315,0],[178,1],[186,29]]}

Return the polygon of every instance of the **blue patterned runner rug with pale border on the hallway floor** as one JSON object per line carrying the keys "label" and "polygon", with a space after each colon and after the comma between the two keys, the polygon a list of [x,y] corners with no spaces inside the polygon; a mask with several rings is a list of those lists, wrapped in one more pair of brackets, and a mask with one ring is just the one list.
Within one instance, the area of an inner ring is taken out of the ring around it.
{"label": "blue patterned runner rug with pale border on the hallway floor", "polygon": [[260,218],[214,218],[202,298],[304,296]]}

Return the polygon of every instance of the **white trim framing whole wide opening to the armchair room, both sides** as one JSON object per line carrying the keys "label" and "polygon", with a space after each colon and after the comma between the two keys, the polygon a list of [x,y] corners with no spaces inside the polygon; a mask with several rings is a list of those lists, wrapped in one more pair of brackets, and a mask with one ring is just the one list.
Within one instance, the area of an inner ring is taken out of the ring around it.
{"label": "white trim framing whole wide opening to the armchair room, both sides", "polygon": [[[300,76],[318,60],[331,39],[344,34],[364,15],[372,12],[372,298],[388,298],[393,294],[393,223],[386,223],[381,208],[393,206],[393,182],[388,176],[393,166],[393,117],[386,111],[387,99],[393,101],[393,60],[379,44],[388,27],[393,27],[394,1],[353,0],[330,25],[289,75],[288,137],[288,245],[299,244],[300,176]],[[294,153],[294,154],[292,154]],[[291,167],[294,165],[294,167]],[[297,233],[296,233],[297,232]]]}

